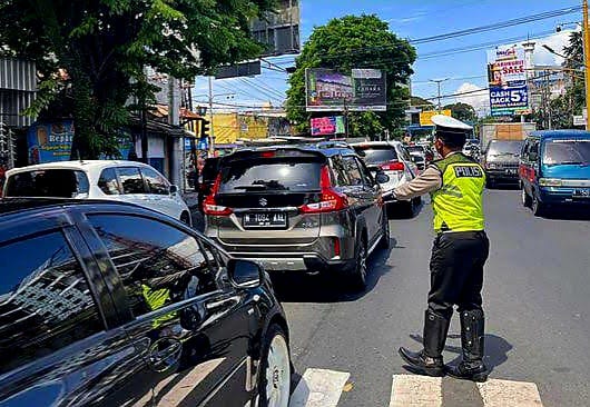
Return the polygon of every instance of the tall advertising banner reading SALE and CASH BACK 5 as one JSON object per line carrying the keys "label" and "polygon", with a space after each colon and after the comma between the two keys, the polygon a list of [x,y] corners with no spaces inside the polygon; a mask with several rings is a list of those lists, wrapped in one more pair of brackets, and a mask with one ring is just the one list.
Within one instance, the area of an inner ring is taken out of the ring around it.
{"label": "tall advertising banner reading SALE and CASH BACK 5", "polygon": [[488,51],[488,82],[492,116],[529,112],[523,48],[499,47]]}

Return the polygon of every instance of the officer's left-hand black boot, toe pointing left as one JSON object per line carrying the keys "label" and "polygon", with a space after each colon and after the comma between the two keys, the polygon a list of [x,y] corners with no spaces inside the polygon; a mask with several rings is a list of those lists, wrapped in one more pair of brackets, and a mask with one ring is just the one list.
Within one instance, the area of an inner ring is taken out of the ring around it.
{"label": "officer's left-hand black boot, toe pointing left", "polygon": [[444,376],[442,351],[446,340],[446,332],[451,320],[432,311],[425,312],[424,318],[424,349],[419,353],[400,348],[400,356],[420,375]]}

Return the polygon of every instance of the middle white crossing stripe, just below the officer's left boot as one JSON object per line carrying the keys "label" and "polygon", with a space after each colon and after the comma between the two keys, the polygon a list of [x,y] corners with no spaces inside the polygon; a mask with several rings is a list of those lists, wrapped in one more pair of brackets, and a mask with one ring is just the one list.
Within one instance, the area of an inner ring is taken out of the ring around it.
{"label": "middle white crossing stripe, just below the officer's left boot", "polygon": [[390,407],[442,407],[442,377],[393,375]]}

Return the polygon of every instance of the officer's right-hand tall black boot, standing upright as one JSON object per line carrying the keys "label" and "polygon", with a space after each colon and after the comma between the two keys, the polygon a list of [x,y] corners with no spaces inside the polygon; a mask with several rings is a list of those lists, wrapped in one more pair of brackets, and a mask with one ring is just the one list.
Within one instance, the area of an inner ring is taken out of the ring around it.
{"label": "officer's right-hand tall black boot, standing upright", "polygon": [[448,366],[446,373],[458,379],[485,381],[489,371],[483,363],[483,311],[481,309],[461,311],[460,316],[463,360],[456,366]]}

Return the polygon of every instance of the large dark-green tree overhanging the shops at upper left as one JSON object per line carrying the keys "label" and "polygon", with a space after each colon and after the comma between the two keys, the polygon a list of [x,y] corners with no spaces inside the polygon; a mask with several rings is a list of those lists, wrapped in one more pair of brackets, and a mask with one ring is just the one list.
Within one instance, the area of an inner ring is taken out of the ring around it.
{"label": "large dark-green tree overhanging the shops at upper left", "polygon": [[3,0],[0,54],[37,63],[39,93],[29,113],[47,109],[68,89],[72,151],[97,158],[115,151],[129,98],[141,105],[153,99],[146,66],[191,79],[256,56],[260,46],[249,37],[248,21],[272,1]]}

